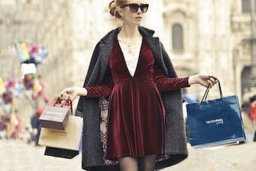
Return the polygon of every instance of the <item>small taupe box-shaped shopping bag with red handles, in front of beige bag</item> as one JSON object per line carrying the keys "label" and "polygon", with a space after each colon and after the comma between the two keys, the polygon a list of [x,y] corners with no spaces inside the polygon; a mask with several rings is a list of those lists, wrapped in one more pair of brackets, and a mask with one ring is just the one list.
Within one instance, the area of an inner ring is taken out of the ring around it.
{"label": "small taupe box-shaped shopping bag with red handles, in front of beige bag", "polygon": [[54,105],[46,105],[42,115],[39,117],[42,127],[65,130],[66,123],[70,117],[71,106],[70,100],[60,105],[59,98]]}

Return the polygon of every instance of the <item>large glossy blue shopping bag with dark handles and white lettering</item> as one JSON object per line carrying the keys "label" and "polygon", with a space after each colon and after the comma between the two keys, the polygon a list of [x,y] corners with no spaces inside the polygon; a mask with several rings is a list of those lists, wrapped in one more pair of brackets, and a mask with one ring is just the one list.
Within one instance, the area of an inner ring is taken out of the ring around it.
{"label": "large glossy blue shopping bag with dark handles and white lettering", "polygon": [[186,105],[190,129],[190,144],[194,148],[245,141],[245,132],[238,97],[223,97],[206,101],[210,87],[199,103]]}

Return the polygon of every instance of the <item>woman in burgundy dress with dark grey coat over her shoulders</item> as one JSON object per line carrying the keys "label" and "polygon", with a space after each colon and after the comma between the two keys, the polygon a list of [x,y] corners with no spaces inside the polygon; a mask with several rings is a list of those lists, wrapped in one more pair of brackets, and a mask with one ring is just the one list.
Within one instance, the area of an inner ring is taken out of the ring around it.
{"label": "woman in burgundy dress with dark grey coat over her shoulders", "polygon": [[[122,26],[98,42],[84,86],[61,93],[64,100],[80,96],[83,169],[154,170],[187,157],[180,89],[213,86],[216,78],[177,78],[154,31],[139,26],[148,7],[142,0],[110,2],[110,14],[121,19]],[[104,119],[99,113],[105,109]]]}

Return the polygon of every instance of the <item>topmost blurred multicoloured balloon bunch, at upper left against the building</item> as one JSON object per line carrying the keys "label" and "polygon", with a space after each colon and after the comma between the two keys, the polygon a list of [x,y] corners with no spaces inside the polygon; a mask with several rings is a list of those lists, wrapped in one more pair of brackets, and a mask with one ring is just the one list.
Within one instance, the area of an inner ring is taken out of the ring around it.
{"label": "topmost blurred multicoloured balloon bunch, at upper left against the building", "polygon": [[48,51],[44,46],[37,43],[14,41],[14,47],[18,54],[20,63],[34,63],[35,66],[41,64],[47,57]]}

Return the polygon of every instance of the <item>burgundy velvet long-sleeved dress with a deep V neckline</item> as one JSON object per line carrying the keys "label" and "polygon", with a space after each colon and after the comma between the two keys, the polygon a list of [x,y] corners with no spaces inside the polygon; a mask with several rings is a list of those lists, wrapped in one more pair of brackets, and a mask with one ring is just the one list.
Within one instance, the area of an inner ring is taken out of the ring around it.
{"label": "burgundy velvet long-sleeved dress with a deep V neckline", "polygon": [[106,158],[163,154],[166,112],[160,92],[187,86],[188,78],[166,78],[144,38],[132,76],[116,38],[104,82],[86,87],[87,97],[110,96]]}

